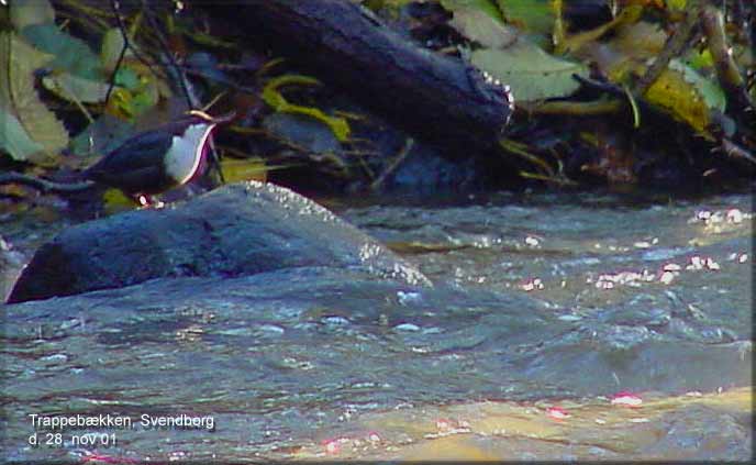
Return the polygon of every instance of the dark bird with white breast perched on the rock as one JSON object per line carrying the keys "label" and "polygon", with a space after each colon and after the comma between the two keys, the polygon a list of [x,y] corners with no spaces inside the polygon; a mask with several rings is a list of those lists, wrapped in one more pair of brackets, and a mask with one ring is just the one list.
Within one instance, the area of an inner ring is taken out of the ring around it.
{"label": "dark bird with white breast perched on the rock", "polygon": [[81,173],[81,178],[120,189],[140,204],[152,196],[184,186],[202,173],[210,151],[210,136],[233,112],[211,117],[190,110],[162,126],[137,133]]}

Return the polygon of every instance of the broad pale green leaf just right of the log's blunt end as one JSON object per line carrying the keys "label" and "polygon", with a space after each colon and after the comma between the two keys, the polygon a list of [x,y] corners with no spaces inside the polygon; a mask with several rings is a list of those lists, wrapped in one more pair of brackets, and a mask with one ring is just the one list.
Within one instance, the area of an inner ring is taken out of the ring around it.
{"label": "broad pale green leaf just right of the log's blunt end", "polygon": [[507,48],[475,51],[470,62],[509,85],[520,101],[567,97],[579,87],[572,74],[588,76],[585,65],[556,58],[522,38]]}

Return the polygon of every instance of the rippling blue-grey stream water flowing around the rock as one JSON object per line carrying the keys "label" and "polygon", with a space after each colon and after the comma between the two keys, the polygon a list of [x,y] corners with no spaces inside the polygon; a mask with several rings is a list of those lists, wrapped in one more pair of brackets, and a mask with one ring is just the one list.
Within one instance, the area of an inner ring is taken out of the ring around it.
{"label": "rippling blue-grey stream water flowing around the rock", "polygon": [[[747,460],[752,201],[334,200],[434,287],[290,270],[0,307],[0,450],[70,462]],[[0,234],[26,256],[55,230],[34,236],[12,220]],[[53,430],[32,414],[133,424]],[[149,424],[179,416],[204,422]]]}

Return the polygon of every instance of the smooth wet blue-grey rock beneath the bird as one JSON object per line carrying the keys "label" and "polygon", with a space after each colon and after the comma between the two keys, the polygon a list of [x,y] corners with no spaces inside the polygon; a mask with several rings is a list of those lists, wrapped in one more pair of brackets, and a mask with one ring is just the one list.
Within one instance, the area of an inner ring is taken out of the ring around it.
{"label": "smooth wet blue-grey rock beneath the bird", "polygon": [[430,284],[323,207],[288,189],[251,181],[163,209],[131,211],[65,230],[34,254],[8,302],[157,277],[232,277],[319,266]]}

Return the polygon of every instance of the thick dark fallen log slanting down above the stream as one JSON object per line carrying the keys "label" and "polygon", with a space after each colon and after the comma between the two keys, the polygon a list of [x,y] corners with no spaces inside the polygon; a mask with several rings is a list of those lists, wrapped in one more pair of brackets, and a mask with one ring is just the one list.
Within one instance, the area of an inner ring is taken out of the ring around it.
{"label": "thick dark fallen log slanting down above the stream", "polygon": [[247,0],[213,3],[210,12],[452,158],[491,148],[512,113],[503,85],[418,46],[356,3]]}

